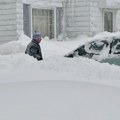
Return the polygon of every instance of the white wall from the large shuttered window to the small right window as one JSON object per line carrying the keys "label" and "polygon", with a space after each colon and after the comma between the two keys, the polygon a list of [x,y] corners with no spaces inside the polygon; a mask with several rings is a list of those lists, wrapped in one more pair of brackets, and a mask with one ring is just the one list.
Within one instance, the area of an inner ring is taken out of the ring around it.
{"label": "white wall from the large shuttered window to the small right window", "polygon": [[[68,37],[93,36],[103,31],[103,7],[106,0],[75,0],[67,5],[66,31]],[[73,9],[73,10],[72,10]]]}

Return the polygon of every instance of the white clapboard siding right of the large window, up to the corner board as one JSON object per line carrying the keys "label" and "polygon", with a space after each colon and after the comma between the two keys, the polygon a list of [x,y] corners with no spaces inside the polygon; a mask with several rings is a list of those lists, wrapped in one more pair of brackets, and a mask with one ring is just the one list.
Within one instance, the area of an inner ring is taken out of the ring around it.
{"label": "white clapboard siding right of the large window, up to the corner board", "polygon": [[76,0],[74,6],[72,2],[67,4],[66,34],[68,37],[90,35],[90,1]]}

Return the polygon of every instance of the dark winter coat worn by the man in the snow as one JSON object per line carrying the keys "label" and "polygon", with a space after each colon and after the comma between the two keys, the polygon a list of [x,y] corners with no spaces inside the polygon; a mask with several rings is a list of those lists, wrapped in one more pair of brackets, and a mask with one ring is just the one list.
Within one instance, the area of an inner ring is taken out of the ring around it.
{"label": "dark winter coat worn by the man in the snow", "polygon": [[26,54],[29,54],[30,56],[33,56],[37,60],[42,60],[42,53],[39,43],[36,40],[32,40],[26,48],[25,51]]}

